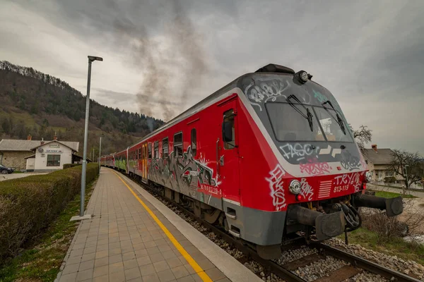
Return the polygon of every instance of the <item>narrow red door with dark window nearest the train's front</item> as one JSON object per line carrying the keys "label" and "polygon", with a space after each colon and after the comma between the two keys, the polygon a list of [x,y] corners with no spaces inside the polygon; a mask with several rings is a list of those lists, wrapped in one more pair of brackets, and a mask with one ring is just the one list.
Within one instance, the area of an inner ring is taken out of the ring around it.
{"label": "narrow red door with dark window nearest the train's front", "polygon": [[220,104],[222,130],[218,147],[218,175],[224,200],[240,204],[237,99]]}

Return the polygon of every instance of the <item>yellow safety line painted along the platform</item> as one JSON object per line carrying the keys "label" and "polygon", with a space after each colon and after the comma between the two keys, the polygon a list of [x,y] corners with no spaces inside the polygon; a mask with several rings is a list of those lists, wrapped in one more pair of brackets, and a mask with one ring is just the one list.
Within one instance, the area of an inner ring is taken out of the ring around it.
{"label": "yellow safety line painted along the platform", "polygon": [[129,185],[126,184],[124,179],[122,179],[121,176],[119,176],[118,173],[116,173],[114,171],[112,171],[112,172],[122,181],[122,183],[124,183],[126,188],[128,188],[129,191],[132,193],[132,195],[134,195],[134,197],[136,197],[136,199],[139,200],[140,204],[143,205],[144,209],[146,209],[148,214],[150,214],[151,217],[156,221],[156,223],[158,223],[158,226],[160,226],[162,231],[167,235],[167,238],[169,238],[171,240],[172,244],[175,245],[175,247],[181,253],[181,255],[184,257],[184,259],[186,259],[187,262],[192,266],[194,271],[196,271],[196,274],[198,274],[200,276],[201,280],[203,280],[205,282],[212,282],[212,279],[208,276],[208,274],[206,274],[206,272],[199,266],[199,264],[197,264],[197,262],[192,258],[191,255],[189,255],[189,253],[184,249],[184,247],[182,247],[182,245],[179,244],[177,239],[175,239],[174,235],[172,235],[172,233],[170,233],[170,231],[167,230],[166,226],[163,225],[162,221],[160,221],[158,219],[158,217],[155,214],[153,214],[151,209],[149,209],[149,207],[147,207],[146,204],[144,204],[144,202],[140,199],[140,197],[136,195],[134,190],[132,190],[129,187]]}

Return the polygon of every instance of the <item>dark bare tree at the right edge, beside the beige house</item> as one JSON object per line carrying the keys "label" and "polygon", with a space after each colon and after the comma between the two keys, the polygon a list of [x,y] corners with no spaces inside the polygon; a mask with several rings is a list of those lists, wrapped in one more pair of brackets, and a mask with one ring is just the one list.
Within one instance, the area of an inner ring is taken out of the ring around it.
{"label": "dark bare tree at the right edge, beside the beige house", "polygon": [[406,181],[408,173],[408,187],[418,183],[424,177],[423,157],[418,152],[411,153],[404,150],[393,150],[393,161],[389,164],[389,170],[394,171],[398,176],[402,176]]}

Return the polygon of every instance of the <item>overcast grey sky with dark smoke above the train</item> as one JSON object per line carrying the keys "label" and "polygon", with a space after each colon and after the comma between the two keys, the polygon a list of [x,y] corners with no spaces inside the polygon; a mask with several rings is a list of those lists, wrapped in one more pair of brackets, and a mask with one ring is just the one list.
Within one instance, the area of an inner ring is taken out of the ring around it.
{"label": "overcast grey sky with dark smoke above the train", "polygon": [[420,0],[1,0],[0,60],[86,94],[87,55],[102,56],[91,97],[165,119],[278,63],[314,75],[379,148],[424,154],[423,14]]}

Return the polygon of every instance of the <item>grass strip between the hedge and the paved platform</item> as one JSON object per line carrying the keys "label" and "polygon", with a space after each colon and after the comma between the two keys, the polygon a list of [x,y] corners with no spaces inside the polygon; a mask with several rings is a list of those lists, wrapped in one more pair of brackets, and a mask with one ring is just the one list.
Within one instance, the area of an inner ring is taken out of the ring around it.
{"label": "grass strip between the hedge and the paved platform", "polygon": [[[86,186],[86,207],[94,183],[95,181]],[[71,222],[69,219],[79,213],[79,207],[78,194],[50,224],[37,243],[0,266],[0,282],[54,281],[78,228],[78,221]]]}

